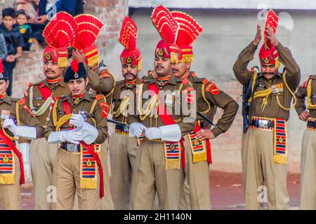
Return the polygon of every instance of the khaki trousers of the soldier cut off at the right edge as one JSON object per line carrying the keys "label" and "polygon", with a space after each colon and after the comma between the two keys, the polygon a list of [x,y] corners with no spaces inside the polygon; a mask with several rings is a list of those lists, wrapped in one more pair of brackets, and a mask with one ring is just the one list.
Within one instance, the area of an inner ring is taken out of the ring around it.
{"label": "khaki trousers of the soldier cut off at the right edge", "polygon": [[316,209],[316,131],[305,130],[301,153],[300,209]]}

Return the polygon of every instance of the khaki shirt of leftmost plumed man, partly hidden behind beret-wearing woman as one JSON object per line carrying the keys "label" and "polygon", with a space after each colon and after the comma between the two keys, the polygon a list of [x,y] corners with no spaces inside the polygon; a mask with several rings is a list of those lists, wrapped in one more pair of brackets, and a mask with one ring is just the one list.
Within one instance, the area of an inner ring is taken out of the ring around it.
{"label": "khaki shirt of leftmost plumed man, partly hidden behind beret-wearing woman", "polygon": [[[48,87],[48,89],[49,89],[49,85],[48,85],[48,82],[46,79],[41,80],[41,81],[34,83],[34,84],[29,84],[29,88],[27,89],[27,92],[25,93],[25,102],[26,102],[27,106],[30,107],[30,104],[31,104],[30,101],[32,101],[33,106],[34,106],[33,109],[35,111],[37,111],[45,102],[45,99],[40,91],[40,89],[44,86]],[[30,98],[30,95],[29,95],[29,93],[30,93],[29,90],[31,87],[33,87],[32,99]],[[53,96],[53,99],[55,99],[56,97],[65,96],[69,93],[70,93],[70,90],[68,88],[68,85],[62,79],[59,81],[58,86],[56,86],[54,90],[51,90],[51,94]],[[49,118],[49,111],[50,111],[50,108],[48,107],[48,109],[46,109],[46,111],[43,115],[37,116],[37,120],[39,120],[39,122],[42,125],[46,125],[48,123],[47,119]]]}

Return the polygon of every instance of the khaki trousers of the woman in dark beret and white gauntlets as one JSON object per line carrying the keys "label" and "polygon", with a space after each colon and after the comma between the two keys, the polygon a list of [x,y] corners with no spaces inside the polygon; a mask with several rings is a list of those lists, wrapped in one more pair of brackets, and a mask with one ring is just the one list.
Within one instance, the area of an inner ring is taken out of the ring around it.
{"label": "khaki trousers of the woman in dark beret and white gauntlets", "polygon": [[73,209],[74,195],[77,192],[80,210],[100,210],[99,184],[98,179],[97,189],[81,189],[80,153],[68,153],[61,148],[58,150],[53,169],[53,186],[56,187],[56,202],[53,203],[53,209]]}

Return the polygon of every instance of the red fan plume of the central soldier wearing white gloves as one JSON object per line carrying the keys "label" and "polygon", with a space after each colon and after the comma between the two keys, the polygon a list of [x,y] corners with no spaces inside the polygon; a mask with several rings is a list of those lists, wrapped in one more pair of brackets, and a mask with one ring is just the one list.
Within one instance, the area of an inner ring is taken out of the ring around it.
{"label": "red fan plume of the central soldier wearing white gloves", "polygon": [[162,5],[154,7],[154,10],[152,10],[152,23],[166,43],[176,43],[179,25],[166,7]]}

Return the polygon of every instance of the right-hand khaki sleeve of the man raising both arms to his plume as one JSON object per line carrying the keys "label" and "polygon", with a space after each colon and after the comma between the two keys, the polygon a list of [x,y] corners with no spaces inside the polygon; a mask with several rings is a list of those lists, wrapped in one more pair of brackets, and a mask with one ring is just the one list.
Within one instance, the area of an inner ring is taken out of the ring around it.
{"label": "right-hand khaki sleeve of the man raising both arms to his plume", "polygon": [[300,66],[296,63],[289,48],[284,48],[282,43],[276,45],[275,48],[279,53],[279,60],[287,69],[287,83],[289,83],[292,90],[295,90],[301,80]]}

